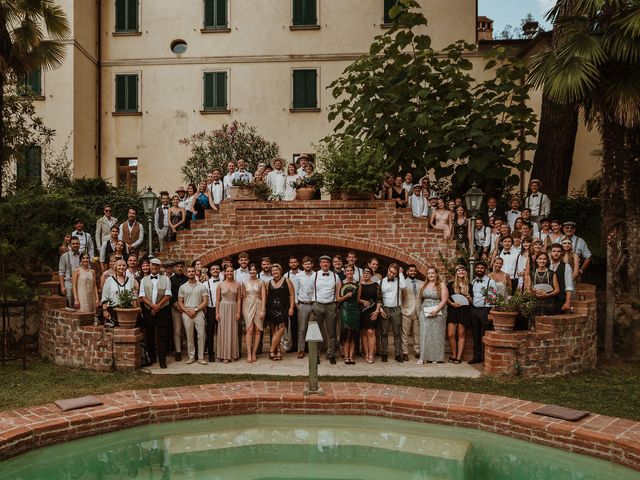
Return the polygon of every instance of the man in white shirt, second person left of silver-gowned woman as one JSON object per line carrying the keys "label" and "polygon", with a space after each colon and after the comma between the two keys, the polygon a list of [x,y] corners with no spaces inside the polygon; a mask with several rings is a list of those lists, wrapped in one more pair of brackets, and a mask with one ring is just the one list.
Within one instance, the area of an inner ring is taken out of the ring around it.
{"label": "man in white shirt, second person left of silver-gowned woman", "polygon": [[389,265],[387,276],[380,282],[382,290],[382,315],[380,321],[380,355],[386,362],[389,356],[389,325],[393,329],[393,351],[396,362],[402,363],[402,310],[400,296],[405,282],[398,277],[400,267],[396,263]]}

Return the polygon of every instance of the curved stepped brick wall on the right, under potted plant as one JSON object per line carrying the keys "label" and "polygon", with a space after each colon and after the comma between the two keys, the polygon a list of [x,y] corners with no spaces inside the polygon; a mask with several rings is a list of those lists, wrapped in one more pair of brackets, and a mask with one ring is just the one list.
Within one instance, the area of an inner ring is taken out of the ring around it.
{"label": "curved stepped brick wall on the right, under potted plant", "polygon": [[576,298],[573,314],[536,317],[535,331],[487,332],[484,373],[534,377],[595,368],[595,287],[578,285]]}

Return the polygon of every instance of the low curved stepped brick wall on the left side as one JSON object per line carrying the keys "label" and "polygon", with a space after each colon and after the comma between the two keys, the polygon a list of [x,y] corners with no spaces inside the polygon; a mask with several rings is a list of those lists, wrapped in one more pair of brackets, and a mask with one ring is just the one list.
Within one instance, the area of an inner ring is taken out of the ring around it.
{"label": "low curved stepped brick wall on the left side", "polygon": [[56,365],[89,370],[140,368],[139,328],[94,327],[93,314],[60,308],[57,300],[43,297],[40,303],[38,344],[42,357]]}

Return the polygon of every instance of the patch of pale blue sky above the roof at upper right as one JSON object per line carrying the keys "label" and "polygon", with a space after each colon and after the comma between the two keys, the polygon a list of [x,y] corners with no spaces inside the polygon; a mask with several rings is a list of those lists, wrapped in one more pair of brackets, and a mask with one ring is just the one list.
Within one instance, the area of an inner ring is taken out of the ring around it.
{"label": "patch of pale blue sky above the roof at upper right", "polygon": [[549,30],[544,16],[554,4],[554,0],[478,0],[478,15],[493,19],[494,37],[500,34],[505,25],[519,28],[520,20],[529,12],[542,28]]}

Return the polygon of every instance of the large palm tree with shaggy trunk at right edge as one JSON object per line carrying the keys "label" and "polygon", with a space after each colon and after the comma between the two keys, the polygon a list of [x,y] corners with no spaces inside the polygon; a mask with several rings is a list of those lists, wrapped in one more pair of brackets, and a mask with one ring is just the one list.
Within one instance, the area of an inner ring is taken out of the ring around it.
{"label": "large palm tree with shaggy trunk at right edge", "polygon": [[611,354],[615,301],[640,298],[640,1],[558,0],[548,17],[567,35],[535,60],[529,81],[554,102],[577,102],[602,134]]}

